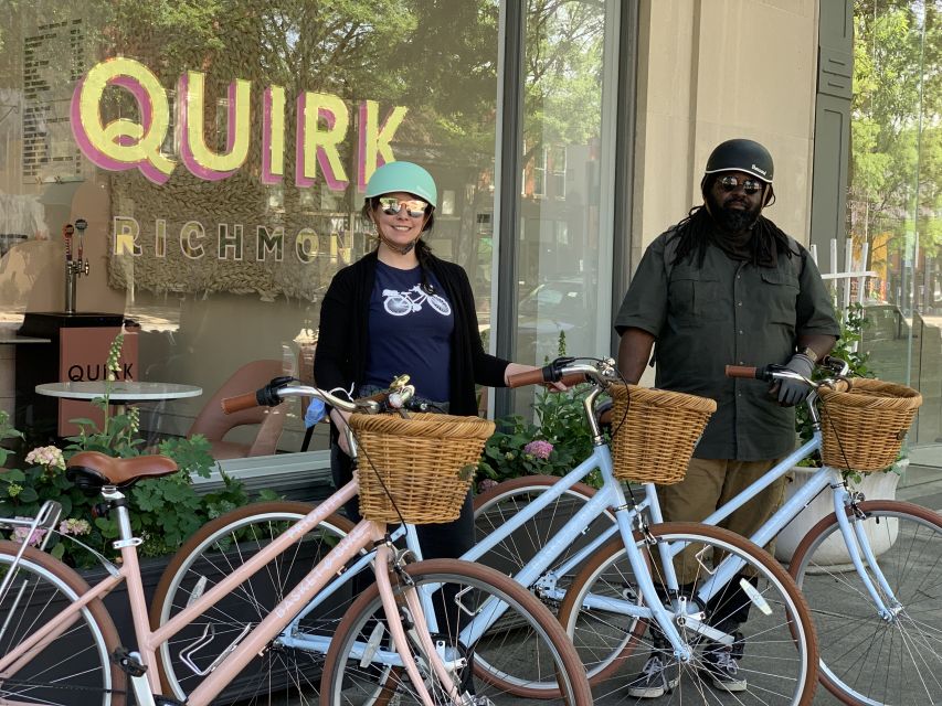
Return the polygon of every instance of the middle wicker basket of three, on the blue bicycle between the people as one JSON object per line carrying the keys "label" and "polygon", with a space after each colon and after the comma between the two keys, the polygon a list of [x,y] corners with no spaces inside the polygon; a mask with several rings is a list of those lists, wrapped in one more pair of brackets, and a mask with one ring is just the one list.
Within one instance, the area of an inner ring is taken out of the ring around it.
{"label": "middle wicker basket of three, on the blue bicycle between the people", "polygon": [[717,410],[717,403],[707,397],[636,385],[627,388],[612,385],[608,392],[614,403],[615,478],[660,485],[684,480],[694,446]]}

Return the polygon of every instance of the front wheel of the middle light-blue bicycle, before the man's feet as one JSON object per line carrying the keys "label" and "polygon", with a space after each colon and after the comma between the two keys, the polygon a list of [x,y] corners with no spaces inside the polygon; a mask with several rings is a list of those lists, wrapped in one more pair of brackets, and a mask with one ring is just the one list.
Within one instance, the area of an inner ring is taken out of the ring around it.
{"label": "front wheel of the middle light-blue bicycle, before the man's feet", "polygon": [[[702,544],[706,556],[715,550],[733,553],[751,567],[749,575],[756,577],[756,590],[772,611],[766,616],[761,610],[752,610],[751,617],[741,625],[745,638],[745,653],[739,661],[739,670],[744,675],[744,691],[734,694],[737,704],[811,704],[816,686],[817,645],[811,613],[797,586],[764,549],[749,539],[711,525],[698,523],[664,523],[650,525],[649,537],[636,535],[643,554],[654,573],[658,574],[656,555],[657,542],[688,541]],[[698,563],[698,570],[709,570]],[[655,576],[657,582],[657,577]],[[729,585],[728,587],[729,588]],[[726,589],[724,589],[726,590]],[[628,564],[624,544],[614,541],[600,550],[575,577],[560,607],[560,620],[572,638],[580,659],[586,667],[590,684],[596,697],[626,688],[652,654],[652,643],[637,639],[637,631],[631,616],[606,611],[601,607],[583,609],[589,595],[624,599],[631,601],[637,595],[634,575]],[[755,602],[755,601],[753,601]],[[698,610],[708,614],[712,610],[712,624],[720,624],[724,610],[723,600],[710,601],[715,607],[698,606]],[[626,621],[626,627],[618,620]],[[685,635],[685,628],[677,627]],[[731,630],[729,628],[728,630]],[[761,638],[761,640],[760,640]],[[690,645],[701,643],[709,649],[706,640],[691,640]],[[669,653],[660,655],[666,664],[666,673],[679,676],[679,685],[663,697],[670,704],[712,704],[720,703],[718,692],[708,683],[702,653],[695,653],[688,664],[680,664]],[[760,668],[775,664],[776,673]],[[788,666],[783,674],[781,667]],[[624,677],[625,684],[615,680]],[[788,686],[791,684],[792,686]],[[686,698],[685,698],[686,697]]]}

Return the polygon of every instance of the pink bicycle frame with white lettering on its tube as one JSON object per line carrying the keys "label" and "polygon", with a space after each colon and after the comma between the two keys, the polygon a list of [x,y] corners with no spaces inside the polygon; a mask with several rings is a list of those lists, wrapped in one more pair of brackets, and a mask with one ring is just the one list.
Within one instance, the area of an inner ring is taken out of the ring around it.
{"label": "pink bicycle frame with white lettering on its tube", "polygon": [[[212,589],[195,599],[183,611],[174,616],[167,623],[160,625],[156,630],[150,629],[148,622],[148,610],[144,595],[144,586],[140,578],[138,565],[138,556],[136,546],[139,541],[133,539],[130,531],[130,520],[127,509],[124,506],[116,507],[118,513],[118,526],[123,539],[120,545],[121,566],[115,567],[108,565],[109,575],[102,581],[89,588],[78,599],[68,606],[57,616],[59,620],[55,623],[47,623],[38,630],[31,638],[0,659],[0,674],[9,678],[13,676],[24,664],[30,661],[32,654],[47,646],[56,638],[65,633],[66,630],[77,620],[78,612],[95,599],[104,598],[107,593],[114,590],[123,581],[127,581],[128,600],[130,601],[131,616],[134,620],[135,633],[138,640],[138,652],[141,655],[141,661],[150,668],[146,672],[146,678],[150,692],[152,694],[160,693],[156,664],[158,648],[190,624],[193,619],[212,607],[221,597],[227,595],[234,588],[252,577],[258,569],[265,566],[275,556],[287,549],[294,544],[300,534],[308,532],[326,520],[330,514],[337,512],[343,503],[350,500],[358,491],[356,482],[348,483],[340,491],[331,495],[324,503],[315,507],[305,517],[294,523],[273,543],[263,548],[257,555],[245,563],[242,567],[229,575]],[[103,495],[108,499],[120,496],[114,489],[107,488]],[[353,530],[343,537],[337,546],[335,546],[326,557],[324,557],[308,574],[301,579],[297,587],[279,603],[258,625],[252,631],[240,635],[235,643],[224,653],[222,661],[214,665],[215,668],[207,676],[207,678],[189,695],[187,703],[190,706],[208,706],[212,703],[222,689],[239,674],[239,672],[252,659],[263,651],[265,646],[283,632],[285,628],[295,620],[293,607],[305,606],[327,586],[334,576],[341,571],[346,564],[357,556],[367,547],[375,547],[374,554],[371,552],[369,557],[374,557],[379,566],[385,566],[389,560],[391,550],[390,544],[387,541],[387,528],[384,524],[370,521],[362,521],[357,524]],[[366,566],[366,561],[370,558],[363,557],[358,564]],[[387,610],[387,616],[390,617],[389,628],[396,645],[396,653],[385,651],[379,659],[385,659],[387,664],[403,666],[413,684],[421,685],[423,683],[417,667],[413,660],[403,660],[400,655],[408,654],[406,638],[402,623],[392,618],[398,616],[398,607],[395,598],[392,593],[392,587],[389,581],[389,576],[385,571],[377,571],[377,584],[380,589],[383,608]],[[425,616],[430,616],[434,621],[434,611],[425,612],[422,606],[415,603],[415,596],[406,593],[406,601],[412,612],[412,617],[416,623],[416,632],[420,635],[420,641],[426,653],[435,652],[435,646],[428,637],[428,631],[434,632],[436,625],[426,625]],[[456,685],[451,680],[447,672],[447,664],[441,662],[435,663],[435,668],[441,673],[440,677],[446,688],[457,693]],[[425,692],[425,689],[421,689]],[[422,694],[423,700],[432,706],[433,702],[427,692]]]}

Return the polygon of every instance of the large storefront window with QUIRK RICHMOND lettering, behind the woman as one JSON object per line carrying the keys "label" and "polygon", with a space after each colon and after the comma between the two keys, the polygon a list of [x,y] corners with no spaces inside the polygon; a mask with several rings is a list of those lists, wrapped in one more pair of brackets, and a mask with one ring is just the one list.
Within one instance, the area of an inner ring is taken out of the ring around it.
{"label": "large storefront window with QUIRK RICHMOND lettering, behind the woman", "polygon": [[184,434],[240,365],[296,360],[374,246],[359,208],[384,161],[435,178],[433,252],[489,320],[496,0],[3,4],[0,312],[63,309],[63,228],[85,220],[78,311],[140,324],[139,379],[207,393],[156,430]]}

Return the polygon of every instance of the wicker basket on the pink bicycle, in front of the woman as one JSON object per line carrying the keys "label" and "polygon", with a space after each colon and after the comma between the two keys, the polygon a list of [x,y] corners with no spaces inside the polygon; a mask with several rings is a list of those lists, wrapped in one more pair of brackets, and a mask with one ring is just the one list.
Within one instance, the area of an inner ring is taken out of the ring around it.
{"label": "wicker basket on the pink bicycle, in front of the woman", "polygon": [[433,414],[353,415],[350,426],[360,446],[360,514],[375,522],[401,514],[413,524],[458,517],[494,434],[487,419]]}

